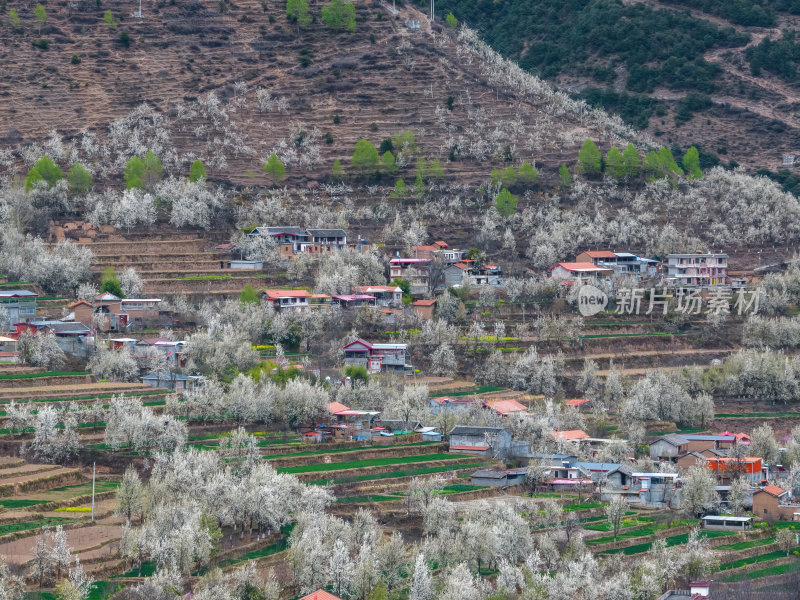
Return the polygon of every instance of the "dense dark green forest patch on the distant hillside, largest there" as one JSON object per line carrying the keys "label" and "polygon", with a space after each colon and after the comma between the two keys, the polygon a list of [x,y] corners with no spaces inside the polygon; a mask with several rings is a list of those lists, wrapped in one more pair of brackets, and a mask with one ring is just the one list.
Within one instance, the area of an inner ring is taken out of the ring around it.
{"label": "dense dark green forest patch on the distant hillside, largest there", "polygon": [[521,2],[443,0],[437,10],[480,24],[500,54],[545,78],[568,71],[613,81],[613,64],[622,62],[626,87],[636,92],[651,92],[657,85],[708,92],[718,68],[703,54],[743,46],[749,39],[686,13],[641,4],[590,0],[565,8],[547,0],[537,7],[530,13]]}

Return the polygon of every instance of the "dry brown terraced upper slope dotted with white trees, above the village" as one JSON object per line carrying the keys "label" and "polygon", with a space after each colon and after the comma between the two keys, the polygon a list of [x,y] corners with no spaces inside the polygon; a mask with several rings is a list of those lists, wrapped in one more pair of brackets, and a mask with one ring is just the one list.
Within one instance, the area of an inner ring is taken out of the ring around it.
{"label": "dry brown terraced upper slope dotted with white trees, above the village", "polygon": [[340,33],[319,22],[299,31],[277,1],[153,3],[141,20],[121,1],[50,3],[39,35],[27,4],[14,4],[23,27],[0,29],[0,60],[26,65],[0,81],[9,147],[0,156],[12,172],[41,155],[37,144],[54,129],[73,144],[48,152],[73,153],[96,177],[118,181],[121,156],[151,149],[168,171],[188,172],[199,157],[210,180],[247,186],[267,183],[261,166],[271,152],[287,183],[305,185],[325,180],[335,159],[346,165],[358,139],[378,145],[405,130],[460,182],[488,176],[509,152],[557,168],[588,135],[633,138],[514,67],[486,64],[468,36],[410,31],[405,19],[421,18],[411,8],[392,17],[359,3],[357,31]]}

